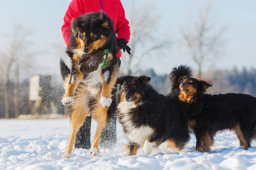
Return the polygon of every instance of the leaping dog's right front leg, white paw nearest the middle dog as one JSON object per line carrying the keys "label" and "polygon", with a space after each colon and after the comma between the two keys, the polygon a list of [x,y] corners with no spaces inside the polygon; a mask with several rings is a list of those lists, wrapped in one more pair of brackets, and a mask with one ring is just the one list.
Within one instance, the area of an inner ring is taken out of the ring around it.
{"label": "leaping dog's right front leg, white paw nearest the middle dog", "polygon": [[111,90],[114,87],[115,81],[117,80],[119,75],[119,67],[115,65],[114,67],[110,67],[102,73],[102,91],[101,91],[101,99],[100,104],[102,107],[109,107],[112,103],[111,99]]}

